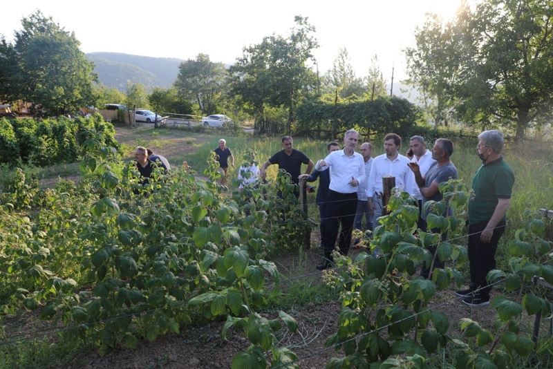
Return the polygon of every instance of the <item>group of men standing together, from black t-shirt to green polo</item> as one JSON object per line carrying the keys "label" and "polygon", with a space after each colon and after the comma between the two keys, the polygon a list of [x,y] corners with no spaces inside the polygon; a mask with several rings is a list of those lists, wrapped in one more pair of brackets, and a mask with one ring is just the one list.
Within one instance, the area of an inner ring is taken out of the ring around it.
{"label": "group of men standing together, from black t-shirt to green polo", "polygon": [[[326,158],[313,162],[301,151],[292,149],[292,138],[282,140],[283,150],[275,153],[263,164],[261,178],[271,164],[290,173],[292,182],[305,178],[312,182],[319,178],[317,205],[321,218],[321,244],[324,248],[324,262],[318,269],[333,265],[332,251],[338,240],[339,252],[348,254],[351,234],[355,227],[360,229],[366,217],[366,226],[372,229],[382,216],[382,178],[395,177],[395,186],[409,192],[418,200],[420,218],[418,227],[426,230],[423,204],[429,200],[442,200],[440,183],[457,179],[458,173],[451,162],[453,142],[447,138],[435,141],[427,149],[424,138],[415,135],[409,141],[406,156],[400,154],[402,140],[395,133],[384,137],[384,153],[371,158],[373,146],[370,142],[361,145],[357,153],[359,133],[350,129],[344,134],[344,145],[337,142],[327,146]],[[500,155],[503,149],[503,134],[500,131],[485,131],[478,135],[477,151],[482,166],[472,180],[474,196],[469,200],[469,265],[471,282],[467,290],[457,291],[463,303],[471,306],[489,304],[487,273],[496,266],[495,253],[500,236],[505,231],[505,214],[512,195],[514,174]],[[301,164],[308,164],[306,174],[301,173]],[[315,171],[310,173],[312,167]],[[447,207],[446,209],[449,209]],[[448,216],[447,211],[442,214]],[[431,249],[435,252],[435,249]],[[435,267],[443,267],[435,261]],[[429,278],[429,269],[423,265],[421,275]]]}

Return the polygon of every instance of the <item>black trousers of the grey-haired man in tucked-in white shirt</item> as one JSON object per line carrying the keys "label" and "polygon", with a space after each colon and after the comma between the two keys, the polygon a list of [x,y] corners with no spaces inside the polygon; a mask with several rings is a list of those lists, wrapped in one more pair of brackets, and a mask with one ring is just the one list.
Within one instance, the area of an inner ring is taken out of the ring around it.
{"label": "black trousers of the grey-haired man in tucked-in white shirt", "polygon": [[326,220],[324,221],[324,256],[332,261],[332,250],[339,233],[339,249],[342,255],[348,254],[351,243],[351,230],[357,209],[357,192],[339,193],[329,190],[326,199]]}

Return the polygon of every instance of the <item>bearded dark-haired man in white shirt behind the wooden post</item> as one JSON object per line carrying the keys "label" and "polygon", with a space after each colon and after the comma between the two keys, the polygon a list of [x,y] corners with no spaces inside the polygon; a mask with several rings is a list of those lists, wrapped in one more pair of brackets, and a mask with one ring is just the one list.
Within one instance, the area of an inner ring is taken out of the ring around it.
{"label": "bearded dark-haired man in white shirt behind the wooden post", "polygon": [[401,155],[402,138],[395,133],[388,133],[384,137],[384,151],[377,156],[371,166],[371,174],[367,182],[368,210],[373,211],[373,227],[378,225],[377,219],[382,216],[382,178],[395,177],[395,187],[404,191],[413,188],[414,176],[409,169],[409,159]]}

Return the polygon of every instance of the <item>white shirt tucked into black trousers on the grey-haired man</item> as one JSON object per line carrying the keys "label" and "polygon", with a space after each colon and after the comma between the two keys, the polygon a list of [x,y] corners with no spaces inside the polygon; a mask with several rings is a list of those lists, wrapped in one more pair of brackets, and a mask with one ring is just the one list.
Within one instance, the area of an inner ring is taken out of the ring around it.
{"label": "white shirt tucked into black trousers on the grey-haired man", "polygon": [[[357,187],[362,185],[365,180],[365,162],[360,153],[354,151],[352,155],[348,156],[342,149],[329,153],[324,161],[330,167],[329,189],[339,193],[357,192]],[[349,184],[352,177],[359,182],[357,186]]]}

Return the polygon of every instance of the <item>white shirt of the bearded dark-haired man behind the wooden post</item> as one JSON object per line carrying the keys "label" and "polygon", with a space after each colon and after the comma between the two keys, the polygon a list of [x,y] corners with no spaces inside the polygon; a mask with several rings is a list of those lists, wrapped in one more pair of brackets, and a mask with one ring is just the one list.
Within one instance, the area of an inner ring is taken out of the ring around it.
{"label": "white shirt of the bearded dark-haired man behind the wooden post", "polygon": [[371,174],[368,176],[367,197],[372,198],[375,193],[383,191],[382,177],[386,176],[395,177],[395,187],[402,190],[411,189],[415,179],[408,163],[409,159],[399,153],[395,160],[388,159],[385,153],[377,156],[371,166]]}

